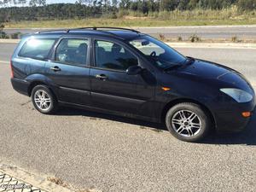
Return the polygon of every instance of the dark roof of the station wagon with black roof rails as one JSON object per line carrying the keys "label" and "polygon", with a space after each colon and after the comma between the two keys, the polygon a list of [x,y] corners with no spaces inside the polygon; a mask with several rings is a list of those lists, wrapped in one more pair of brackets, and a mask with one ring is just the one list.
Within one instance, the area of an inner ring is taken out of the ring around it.
{"label": "dark roof of the station wagon with black roof rails", "polygon": [[131,40],[144,35],[133,29],[119,27],[84,27],[74,29],[58,29],[50,31],[35,32],[38,35],[89,35],[97,37],[119,38],[122,40]]}

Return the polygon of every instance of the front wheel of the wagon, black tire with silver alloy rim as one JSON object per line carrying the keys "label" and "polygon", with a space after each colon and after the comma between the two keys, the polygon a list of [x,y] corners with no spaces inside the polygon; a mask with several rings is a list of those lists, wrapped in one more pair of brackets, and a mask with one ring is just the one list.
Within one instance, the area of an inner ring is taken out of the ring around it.
{"label": "front wheel of the wagon, black tire with silver alloy rim", "polygon": [[177,139],[193,143],[207,137],[212,121],[200,105],[183,102],[166,113],[166,127]]}

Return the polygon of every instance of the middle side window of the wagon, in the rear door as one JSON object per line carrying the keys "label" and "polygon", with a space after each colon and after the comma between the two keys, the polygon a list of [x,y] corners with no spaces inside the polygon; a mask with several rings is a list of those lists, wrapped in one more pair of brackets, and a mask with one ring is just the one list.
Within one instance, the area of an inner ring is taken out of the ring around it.
{"label": "middle side window of the wagon, in the rear door", "polygon": [[87,50],[86,39],[63,39],[56,49],[55,60],[64,64],[85,66]]}

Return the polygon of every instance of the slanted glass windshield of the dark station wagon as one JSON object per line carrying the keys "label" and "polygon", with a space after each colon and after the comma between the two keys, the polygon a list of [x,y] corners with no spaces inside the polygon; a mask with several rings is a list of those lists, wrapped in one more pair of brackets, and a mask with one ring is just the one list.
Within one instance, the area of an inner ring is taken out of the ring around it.
{"label": "slanted glass windshield of the dark station wagon", "polygon": [[129,43],[146,55],[149,60],[154,61],[156,67],[162,69],[182,65],[187,61],[185,56],[179,54],[167,44],[149,36],[133,39]]}

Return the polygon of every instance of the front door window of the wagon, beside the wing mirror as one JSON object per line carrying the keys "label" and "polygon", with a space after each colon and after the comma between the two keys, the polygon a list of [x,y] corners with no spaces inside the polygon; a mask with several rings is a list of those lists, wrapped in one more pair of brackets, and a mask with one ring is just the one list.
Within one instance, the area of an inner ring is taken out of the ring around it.
{"label": "front door window of the wagon, beside the wing mirror", "polygon": [[138,65],[137,57],[119,44],[96,41],[96,67],[125,71]]}

